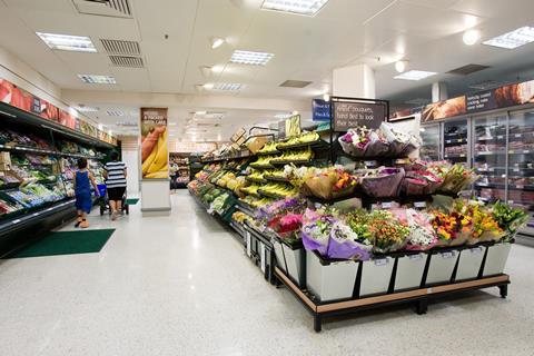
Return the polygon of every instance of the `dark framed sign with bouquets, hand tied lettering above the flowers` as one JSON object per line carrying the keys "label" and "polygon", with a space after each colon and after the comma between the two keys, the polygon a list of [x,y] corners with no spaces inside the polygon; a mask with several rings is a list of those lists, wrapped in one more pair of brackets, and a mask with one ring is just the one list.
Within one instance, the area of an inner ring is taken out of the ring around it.
{"label": "dark framed sign with bouquets, hand tied lettering above the flowers", "polygon": [[362,101],[333,101],[334,131],[365,126],[377,129],[386,118],[386,106]]}

